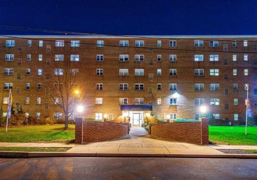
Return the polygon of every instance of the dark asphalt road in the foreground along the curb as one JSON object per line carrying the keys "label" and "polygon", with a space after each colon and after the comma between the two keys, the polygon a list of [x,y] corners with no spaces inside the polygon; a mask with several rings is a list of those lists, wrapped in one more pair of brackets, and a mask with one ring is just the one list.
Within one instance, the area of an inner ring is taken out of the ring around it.
{"label": "dark asphalt road in the foreground along the curb", "polygon": [[256,159],[0,158],[0,179],[257,179]]}

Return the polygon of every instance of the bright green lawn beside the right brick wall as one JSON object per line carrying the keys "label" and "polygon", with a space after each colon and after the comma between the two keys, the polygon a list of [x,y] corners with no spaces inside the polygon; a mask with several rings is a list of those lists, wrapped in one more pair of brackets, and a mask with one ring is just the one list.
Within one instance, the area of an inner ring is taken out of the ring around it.
{"label": "bright green lawn beside the right brick wall", "polygon": [[214,143],[230,145],[257,145],[257,127],[209,126],[209,139]]}

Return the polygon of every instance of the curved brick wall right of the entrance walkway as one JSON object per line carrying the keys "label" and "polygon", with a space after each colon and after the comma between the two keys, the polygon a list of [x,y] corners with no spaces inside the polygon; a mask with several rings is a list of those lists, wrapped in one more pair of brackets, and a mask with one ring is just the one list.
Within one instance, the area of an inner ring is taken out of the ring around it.
{"label": "curved brick wall right of the entrance walkway", "polygon": [[150,125],[150,134],[171,140],[209,143],[209,119],[199,118],[198,122],[170,122]]}

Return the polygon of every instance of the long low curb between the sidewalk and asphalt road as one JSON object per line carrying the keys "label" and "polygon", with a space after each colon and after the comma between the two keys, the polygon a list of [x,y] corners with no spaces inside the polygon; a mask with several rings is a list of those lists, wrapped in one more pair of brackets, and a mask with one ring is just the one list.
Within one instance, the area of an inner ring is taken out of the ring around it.
{"label": "long low curb between the sidewalk and asphalt road", "polygon": [[65,152],[13,152],[1,151],[0,157],[185,157],[185,158],[240,158],[257,159],[257,154],[111,154],[111,153],[65,153]]}

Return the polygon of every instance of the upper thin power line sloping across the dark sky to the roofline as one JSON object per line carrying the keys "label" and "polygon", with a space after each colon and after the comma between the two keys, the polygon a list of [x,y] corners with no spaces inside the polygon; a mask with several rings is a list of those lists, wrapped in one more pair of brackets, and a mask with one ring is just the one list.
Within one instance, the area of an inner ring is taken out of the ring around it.
{"label": "upper thin power line sloping across the dark sky to the roofline", "polygon": [[[71,32],[71,31],[59,31],[59,30],[47,30],[47,29],[35,29],[35,28],[25,28],[25,27],[18,27],[18,26],[3,26],[0,25],[0,29],[12,29],[12,30],[24,30],[24,31],[38,31],[38,32],[48,32],[48,33],[61,33],[61,34],[76,34],[76,35],[106,35],[110,37],[125,37],[125,38],[149,38],[149,39],[169,39],[169,40],[181,40],[181,41],[199,41],[200,39],[180,39],[180,38],[164,38],[164,37],[144,37],[144,36],[137,36],[137,35],[115,35],[115,34],[100,34],[100,33],[83,33],[83,32]],[[240,38],[240,37],[238,37]],[[213,39],[205,39],[201,41],[214,41]],[[220,42],[233,42],[234,40],[217,40]],[[244,42],[244,40],[236,40],[237,42]],[[249,43],[257,43],[257,41],[247,41]]]}

